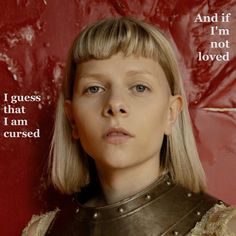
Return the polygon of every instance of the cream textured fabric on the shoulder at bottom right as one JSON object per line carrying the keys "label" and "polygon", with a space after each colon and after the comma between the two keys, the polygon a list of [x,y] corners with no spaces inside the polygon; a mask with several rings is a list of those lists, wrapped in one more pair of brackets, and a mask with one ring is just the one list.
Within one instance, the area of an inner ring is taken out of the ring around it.
{"label": "cream textured fabric on the shoulder at bottom right", "polygon": [[216,204],[196,224],[190,235],[236,235],[236,206]]}

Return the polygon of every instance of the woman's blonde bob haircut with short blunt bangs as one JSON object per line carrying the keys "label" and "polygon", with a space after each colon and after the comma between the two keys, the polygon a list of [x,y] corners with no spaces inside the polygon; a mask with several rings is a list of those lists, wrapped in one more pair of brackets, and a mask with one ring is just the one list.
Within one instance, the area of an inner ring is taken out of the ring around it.
{"label": "woman's blonde bob haircut with short blunt bangs", "polygon": [[91,157],[84,152],[80,142],[72,138],[64,101],[73,97],[78,64],[91,59],[107,59],[117,53],[156,61],[164,70],[172,95],[183,97],[183,109],[172,128],[172,134],[163,138],[160,168],[169,172],[176,183],[191,191],[205,190],[205,174],[198,157],[184,89],[170,43],[154,26],[130,17],[98,21],[86,27],[72,44],[51,143],[49,168],[52,183],[62,193],[71,194],[79,192],[91,181]]}

